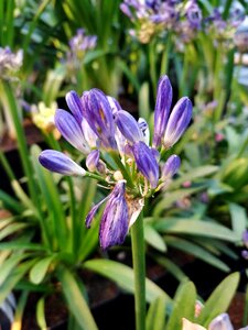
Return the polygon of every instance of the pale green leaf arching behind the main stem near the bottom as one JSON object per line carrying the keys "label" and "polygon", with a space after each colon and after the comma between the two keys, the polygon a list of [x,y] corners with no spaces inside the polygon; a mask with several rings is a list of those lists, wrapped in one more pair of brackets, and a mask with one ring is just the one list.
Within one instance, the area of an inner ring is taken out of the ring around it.
{"label": "pale green leaf arching behind the main stem near the bottom", "polygon": [[[134,274],[132,268],[110,260],[90,260],[83,264],[84,268],[96,272],[115,283],[122,289],[134,293]],[[172,302],[171,298],[153,282],[145,280],[145,299],[148,302],[153,301],[159,296],[164,296],[166,301]]]}

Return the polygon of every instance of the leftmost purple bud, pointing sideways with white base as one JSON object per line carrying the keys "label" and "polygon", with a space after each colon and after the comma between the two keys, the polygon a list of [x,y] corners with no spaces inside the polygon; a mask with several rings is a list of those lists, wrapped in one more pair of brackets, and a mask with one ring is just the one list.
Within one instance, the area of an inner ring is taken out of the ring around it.
{"label": "leftmost purple bud, pointing sideways with white base", "polygon": [[54,151],[45,150],[39,156],[39,162],[48,170],[61,173],[64,175],[85,175],[85,169],[77,165],[65,154]]}

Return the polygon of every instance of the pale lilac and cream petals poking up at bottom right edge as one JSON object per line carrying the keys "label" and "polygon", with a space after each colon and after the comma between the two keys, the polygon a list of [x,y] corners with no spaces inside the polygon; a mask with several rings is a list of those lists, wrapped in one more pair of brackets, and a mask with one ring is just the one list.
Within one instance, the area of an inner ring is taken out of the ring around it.
{"label": "pale lilac and cream petals poking up at bottom right edge", "polygon": [[[217,316],[214,320],[211,321],[208,330],[234,330],[234,327],[230,322],[229,316],[224,312]],[[182,330],[206,330],[206,328],[192,323],[187,319],[183,319],[183,328]],[[248,330],[248,327],[241,328],[239,330]]]}

